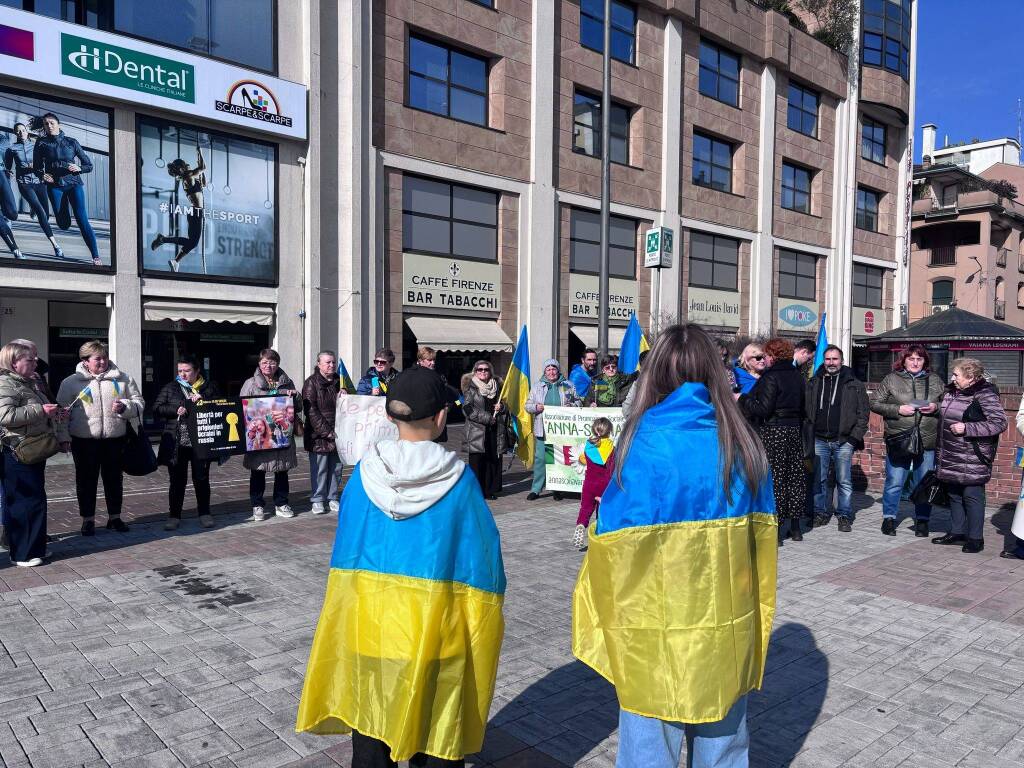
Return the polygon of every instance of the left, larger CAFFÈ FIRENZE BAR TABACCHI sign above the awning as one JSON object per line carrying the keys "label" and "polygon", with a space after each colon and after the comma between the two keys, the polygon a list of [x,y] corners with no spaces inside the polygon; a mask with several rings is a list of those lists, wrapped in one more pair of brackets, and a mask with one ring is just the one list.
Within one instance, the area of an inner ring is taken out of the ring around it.
{"label": "left, larger CAFF\u00c8 FIRENZE BAR TABACCHI sign above the awning", "polygon": [[401,303],[432,309],[502,308],[502,268],[497,263],[402,255]]}

